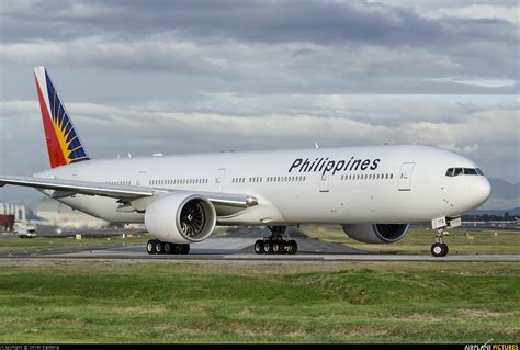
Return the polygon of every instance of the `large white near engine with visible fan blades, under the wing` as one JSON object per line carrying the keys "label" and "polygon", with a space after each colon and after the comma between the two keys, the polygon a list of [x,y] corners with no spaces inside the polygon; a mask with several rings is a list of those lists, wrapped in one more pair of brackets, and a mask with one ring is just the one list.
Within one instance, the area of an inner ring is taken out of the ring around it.
{"label": "large white near engine with visible fan blades, under the wing", "polygon": [[146,229],[162,241],[192,244],[215,228],[213,203],[196,194],[172,193],[151,203],[145,213]]}

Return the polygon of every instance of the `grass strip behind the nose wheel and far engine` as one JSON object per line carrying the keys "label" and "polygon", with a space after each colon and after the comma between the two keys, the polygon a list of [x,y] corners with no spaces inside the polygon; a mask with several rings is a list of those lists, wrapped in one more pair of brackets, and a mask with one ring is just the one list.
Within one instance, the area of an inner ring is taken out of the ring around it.
{"label": "grass strip behind the nose wheel and far engine", "polygon": [[[410,228],[406,236],[389,245],[362,244],[347,237],[340,226],[302,226],[301,232],[308,237],[339,242],[370,252],[425,255],[430,252],[436,232],[427,228]],[[449,255],[520,255],[519,232],[473,232],[456,228],[445,238]]]}

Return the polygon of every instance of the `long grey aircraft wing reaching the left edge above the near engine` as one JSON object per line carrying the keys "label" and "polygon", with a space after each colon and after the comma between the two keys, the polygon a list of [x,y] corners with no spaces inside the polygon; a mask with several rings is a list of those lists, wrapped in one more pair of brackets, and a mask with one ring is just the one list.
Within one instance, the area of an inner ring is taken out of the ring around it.
{"label": "long grey aircraft wing reaching the left edge above the near engine", "polygon": [[0,176],[0,188],[5,184],[35,188],[39,190],[54,190],[50,194],[54,199],[61,199],[75,194],[101,195],[122,201],[132,201],[140,197],[152,197],[157,194],[167,194],[170,192],[196,193],[208,199],[213,204],[248,207],[257,205],[257,200],[244,194],[213,193],[201,191],[171,190],[138,185],[109,184],[90,181],[47,179],[35,177],[12,177]]}

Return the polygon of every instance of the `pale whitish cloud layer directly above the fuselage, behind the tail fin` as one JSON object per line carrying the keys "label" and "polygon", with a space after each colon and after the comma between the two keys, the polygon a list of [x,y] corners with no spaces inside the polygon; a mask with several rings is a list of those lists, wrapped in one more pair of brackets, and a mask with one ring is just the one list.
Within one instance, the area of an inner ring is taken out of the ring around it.
{"label": "pale whitish cloud layer directly above the fuselage, behind the tail fin", "polygon": [[[394,103],[399,104],[397,101]],[[426,104],[428,103],[431,102]],[[406,102],[400,101],[400,104],[406,105]],[[414,104],[419,108],[420,101]],[[3,101],[0,108],[4,115],[0,121],[5,129],[9,129],[8,133],[0,134],[0,142],[10,145],[16,139],[24,139],[31,147],[25,149],[27,155],[19,157],[39,154],[39,158],[45,158],[45,151],[41,149],[42,131],[39,127],[26,127],[34,125],[34,120],[39,118],[36,101]],[[437,105],[440,115],[443,111],[454,111],[457,108],[456,104],[440,102]],[[348,109],[343,110],[344,116],[339,116],[341,113],[338,113],[329,117],[313,115],[312,110],[294,114],[230,116],[218,113],[122,109],[92,103],[68,104],[86,147],[91,156],[98,158],[114,157],[127,151],[134,155],[151,155],[226,149],[310,148],[314,142],[318,142],[323,147],[418,143],[455,150],[471,158],[476,157],[475,160],[482,162],[482,168],[490,173],[495,173],[495,169],[488,166],[490,161],[486,157],[507,161],[512,167],[519,166],[520,159],[515,159],[519,129],[516,110],[474,106],[459,109],[457,113],[466,114],[464,117],[445,122],[438,117],[437,122],[428,122],[421,121],[422,114],[417,114],[415,118],[410,117],[409,113],[400,117],[387,117],[384,103],[374,106],[366,99],[357,101],[355,109],[364,109],[366,114],[374,117],[370,121],[352,120]],[[436,120],[430,116],[426,118]],[[500,123],[496,122],[497,118]],[[201,127],[202,125],[204,127]],[[117,139],[116,144],[113,143],[114,137]],[[497,144],[511,149],[497,151]],[[36,149],[39,150],[35,151]],[[8,169],[9,167],[8,165]]]}

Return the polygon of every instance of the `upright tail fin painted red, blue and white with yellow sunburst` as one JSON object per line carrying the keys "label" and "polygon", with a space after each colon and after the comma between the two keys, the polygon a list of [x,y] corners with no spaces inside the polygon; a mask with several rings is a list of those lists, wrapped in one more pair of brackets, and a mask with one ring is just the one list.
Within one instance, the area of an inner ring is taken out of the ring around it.
{"label": "upright tail fin painted red, blue and white with yellow sunburst", "polygon": [[50,168],[89,160],[45,67],[34,68]]}

